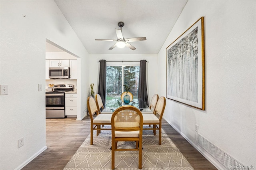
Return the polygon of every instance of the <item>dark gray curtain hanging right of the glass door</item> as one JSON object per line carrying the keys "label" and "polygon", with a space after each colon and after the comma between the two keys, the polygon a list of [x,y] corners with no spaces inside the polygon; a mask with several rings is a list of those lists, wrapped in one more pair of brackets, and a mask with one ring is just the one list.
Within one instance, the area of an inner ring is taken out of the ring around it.
{"label": "dark gray curtain hanging right of the glass door", "polygon": [[140,79],[139,79],[138,99],[141,99],[139,103],[140,108],[146,108],[146,105],[148,106],[146,60],[144,59],[140,60]]}

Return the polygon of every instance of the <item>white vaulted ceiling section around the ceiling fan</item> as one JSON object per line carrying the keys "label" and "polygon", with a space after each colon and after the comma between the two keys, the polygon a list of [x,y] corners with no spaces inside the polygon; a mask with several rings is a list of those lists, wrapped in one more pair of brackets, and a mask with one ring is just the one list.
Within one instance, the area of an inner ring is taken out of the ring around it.
{"label": "white vaulted ceiling section around the ceiling fan", "polygon": [[[89,54],[156,54],[169,35],[188,0],[54,0]],[[109,48],[116,40],[118,22],[124,22],[124,38],[146,37],[130,42],[136,47]]]}

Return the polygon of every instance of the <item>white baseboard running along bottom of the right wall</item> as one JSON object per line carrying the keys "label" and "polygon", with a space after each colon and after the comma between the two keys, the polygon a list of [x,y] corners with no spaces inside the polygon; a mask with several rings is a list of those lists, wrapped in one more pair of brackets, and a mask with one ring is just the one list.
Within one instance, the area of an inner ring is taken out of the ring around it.
{"label": "white baseboard running along bottom of the right wall", "polygon": [[228,170],[225,166],[223,166],[220,162],[218,162],[215,158],[213,158],[208,152],[206,152],[204,148],[202,148],[198,144],[195,144],[184,133],[180,132],[180,130],[178,130],[174,125],[172,125],[172,123],[170,123],[169,121],[166,121],[166,122],[169,123],[182,137],[184,137],[194,148],[196,148],[196,150],[198,150],[198,152],[200,152],[200,154],[202,154],[218,170]]}

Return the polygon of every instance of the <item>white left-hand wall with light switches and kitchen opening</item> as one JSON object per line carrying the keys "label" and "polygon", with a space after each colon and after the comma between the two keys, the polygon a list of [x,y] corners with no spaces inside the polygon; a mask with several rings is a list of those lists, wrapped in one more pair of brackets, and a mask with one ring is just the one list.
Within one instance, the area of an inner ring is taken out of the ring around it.
{"label": "white left-hand wall with light switches and kitchen opening", "polygon": [[[46,149],[45,46],[46,39],[80,57],[78,86],[88,84],[88,52],[53,0],[1,0],[0,169],[20,169]],[[72,42],[72,43],[70,43]],[[38,84],[43,90],[38,91]],[[86,91],[81,89],[80,108]],[[82,112],[82,111],[81,111]],[[18,139],[24,146],[18,148]]]}

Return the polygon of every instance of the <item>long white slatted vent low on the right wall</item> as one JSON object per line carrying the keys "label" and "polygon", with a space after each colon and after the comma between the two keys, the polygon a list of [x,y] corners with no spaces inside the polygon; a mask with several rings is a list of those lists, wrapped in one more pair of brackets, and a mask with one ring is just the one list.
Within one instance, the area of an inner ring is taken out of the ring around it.
{"label": "long white slatted vent low on the right wall", "polygon": [[202,148],[204,148],[204,150],[206,150],[216,160],[222,163],[228,170],[249,170],[247,166],[244,166],[243,164],[232,158],[230,155],[209,142],[199,133],[197,133],[197,142],[198,144],[200,144],[200,146],[202,146]]}

